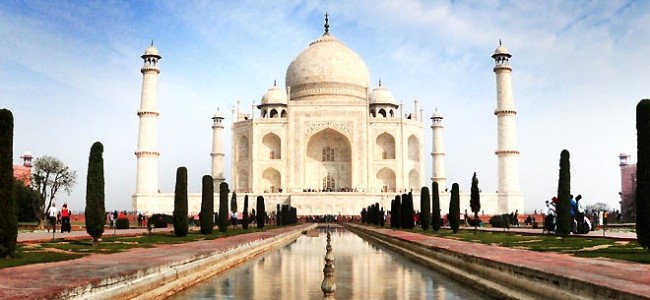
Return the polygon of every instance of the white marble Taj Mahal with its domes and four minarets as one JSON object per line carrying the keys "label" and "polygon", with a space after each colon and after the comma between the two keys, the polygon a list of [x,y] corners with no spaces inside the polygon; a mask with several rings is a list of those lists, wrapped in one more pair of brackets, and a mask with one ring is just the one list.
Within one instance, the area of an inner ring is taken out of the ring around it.
{"label": "white marble Taj Mahal with its domes and four minarets", "polygon": [[[222,146],[225,117],[220,111],[212,117],[210,155],[215,191],[226,181],[224,165],[230,163],[232,175],[227,183],[237,194],[238,207],[243,207],[245,195],[252,199],[262,195],[267,211],[277,204],[290,204],[299,215],[358,215],[373,203],[390,208],[398,194],[413,192],[419,199],[420,189],[431,189],[431,181],[435,181],[441,208],[447,211],[446,189],[450,186],[445,175],[443,116],[436,110],[425,118],[417,101],[412,110],[406,109],[381,80],[371,88],[365,62],[334,37],[327,16],[324,27],[324,33],[289,64],[284,87],[274,82],[251,111],[237,102],[229,122],[230,162],[225,161]],[[142,55],[132,209],[171,214],[174,194],[158,189],[157,77],[161,58],[153,44]],[[492,58],[497,101],[496,109],[486,113],[497,119],[498,188],[496,193],[481,193],[481,206],[485,214],[523,212],[511,54],[499,42]],[[425,126],[432,130],[432,141],[424,140]],[[431,152],[425,150],[428,145]],[[433,174],[426,176],[425,155],[429,153]],[[218,202],[217,195],[215,199]],[[188,202],[190,213],[200,211],[200,193],[190,193]],[[414,202],[419,210],[419,201]],[[469,210],[468,192],[461,193],[461,211],[464,209]]]}

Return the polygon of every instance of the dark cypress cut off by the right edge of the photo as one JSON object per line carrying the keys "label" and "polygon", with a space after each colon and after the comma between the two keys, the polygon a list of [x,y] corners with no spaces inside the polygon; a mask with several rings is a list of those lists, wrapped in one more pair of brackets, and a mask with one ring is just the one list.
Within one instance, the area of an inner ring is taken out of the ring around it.
{"label": "dark cypress cut off by the right edge of the photo", "polygon": [[636,237],[643,249],[650,251],[650,100],[636,106]]}

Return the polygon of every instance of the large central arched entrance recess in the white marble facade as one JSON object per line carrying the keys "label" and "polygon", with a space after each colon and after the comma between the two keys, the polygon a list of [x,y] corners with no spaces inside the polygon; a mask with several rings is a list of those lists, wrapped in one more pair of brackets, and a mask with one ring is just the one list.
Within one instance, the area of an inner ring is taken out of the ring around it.
{"label": "large central arched entrance recess in the white marble facade", "polygon": [[340,191],[352,188],[352,151],[348,138],[327,128],[307,142],[304,189]]}

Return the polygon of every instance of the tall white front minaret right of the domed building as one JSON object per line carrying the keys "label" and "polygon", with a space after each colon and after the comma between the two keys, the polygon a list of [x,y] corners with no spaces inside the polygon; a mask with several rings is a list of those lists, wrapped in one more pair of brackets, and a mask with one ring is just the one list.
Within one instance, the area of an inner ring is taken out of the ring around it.
{"label": "tall white front minaret right of the domed building", "polygon": [[499,160],[498,209],[501,213],[519,209],[523,212],[523,195],[519,190],[519,150],[517,149],[517,127],[512,82],[510,53],[501,44],[494,51],[494,73],[497,79],[497,150]]}

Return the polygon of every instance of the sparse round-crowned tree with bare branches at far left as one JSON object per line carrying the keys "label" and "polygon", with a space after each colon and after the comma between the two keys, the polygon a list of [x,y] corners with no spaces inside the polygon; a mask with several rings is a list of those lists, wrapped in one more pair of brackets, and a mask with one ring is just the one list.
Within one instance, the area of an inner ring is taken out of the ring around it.
{"label": "sparse round-crowned tree with bare branches at far left", "polygon": [[56,193],[63,188],[68,194],[77,183],[77,172],[70,170],[56,157],[43,156],[34,161],[32,186],[41,193],[37,203],[39,225],[44,226],[45,216]]}

